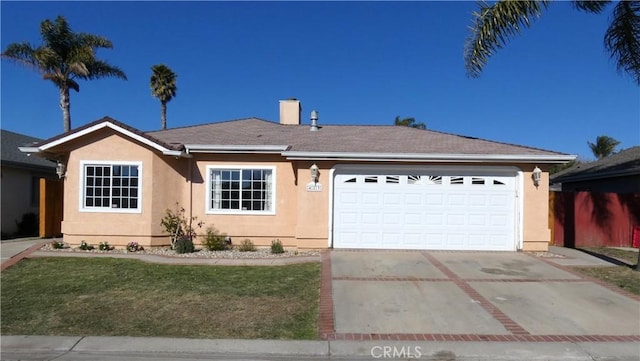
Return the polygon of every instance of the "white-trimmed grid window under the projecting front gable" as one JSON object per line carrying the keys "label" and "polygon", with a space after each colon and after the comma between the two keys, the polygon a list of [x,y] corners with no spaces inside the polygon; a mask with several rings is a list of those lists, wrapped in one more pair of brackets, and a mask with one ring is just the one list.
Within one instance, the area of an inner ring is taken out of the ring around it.
{"label": "white-trimmed grid window under the projecting front gable", "polygon": [[141,163],[83,162],[81,209],[139,212]]}

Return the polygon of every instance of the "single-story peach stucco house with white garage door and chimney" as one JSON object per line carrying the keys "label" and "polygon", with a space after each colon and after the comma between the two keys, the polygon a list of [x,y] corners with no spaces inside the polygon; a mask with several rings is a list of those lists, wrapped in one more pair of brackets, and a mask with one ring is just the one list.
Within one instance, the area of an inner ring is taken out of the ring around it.
{"label": "single-story peach stucco house with white garage door and chimney", "polygon": [[71,244],[167,245],[160,220],[178,202],[263,246],[547,249],[547,170],[575,156],[393,125],[314,127],[300,114],[283,100],[280,123],[153,132],[105,117],[21,150],[66,164]]}

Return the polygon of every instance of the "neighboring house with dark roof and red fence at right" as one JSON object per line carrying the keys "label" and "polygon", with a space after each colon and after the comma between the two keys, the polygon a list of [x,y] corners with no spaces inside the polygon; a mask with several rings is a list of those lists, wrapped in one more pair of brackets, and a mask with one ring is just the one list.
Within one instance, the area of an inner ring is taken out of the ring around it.
{"label": "neighboring house with dark roof and red fence at right", "polygon": [[551,182],[555,245],[640,244],[640,147],[566,169]]}

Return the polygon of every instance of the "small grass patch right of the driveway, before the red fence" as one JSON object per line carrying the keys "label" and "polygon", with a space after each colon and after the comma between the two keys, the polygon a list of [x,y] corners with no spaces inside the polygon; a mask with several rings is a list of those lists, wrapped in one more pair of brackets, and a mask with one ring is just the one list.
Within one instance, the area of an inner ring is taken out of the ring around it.
{"label": "small grass patch right of the driveway, before the red fence", "polygon": [[640,295],[640,272],[633,270],[638,261],[637,250],[626,251],[607,247],[581,247],[580,249],[604,259],[612,258],[622,261],[624,264],[612,267],[574,267],[575,270]]}

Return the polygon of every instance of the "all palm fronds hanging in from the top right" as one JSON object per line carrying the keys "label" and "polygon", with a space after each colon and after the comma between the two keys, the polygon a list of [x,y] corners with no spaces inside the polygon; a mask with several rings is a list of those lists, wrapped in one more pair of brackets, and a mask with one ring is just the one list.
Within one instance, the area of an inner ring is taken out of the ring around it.
{"label": "all palm fronds hanging in from the top right", "polygon": [[[471,34],[464,51],[467,74],[478,77],[488,58],[507,41],[531,26],[548,7],[550,0],[500,0],[489,5],[480,3],[473,13]],[[577,10],[600,14],[609,0],[572,1]],[[640,1],[619,1],[613,9],[604,45],[620,72],[626,72],[640,84]]]}

